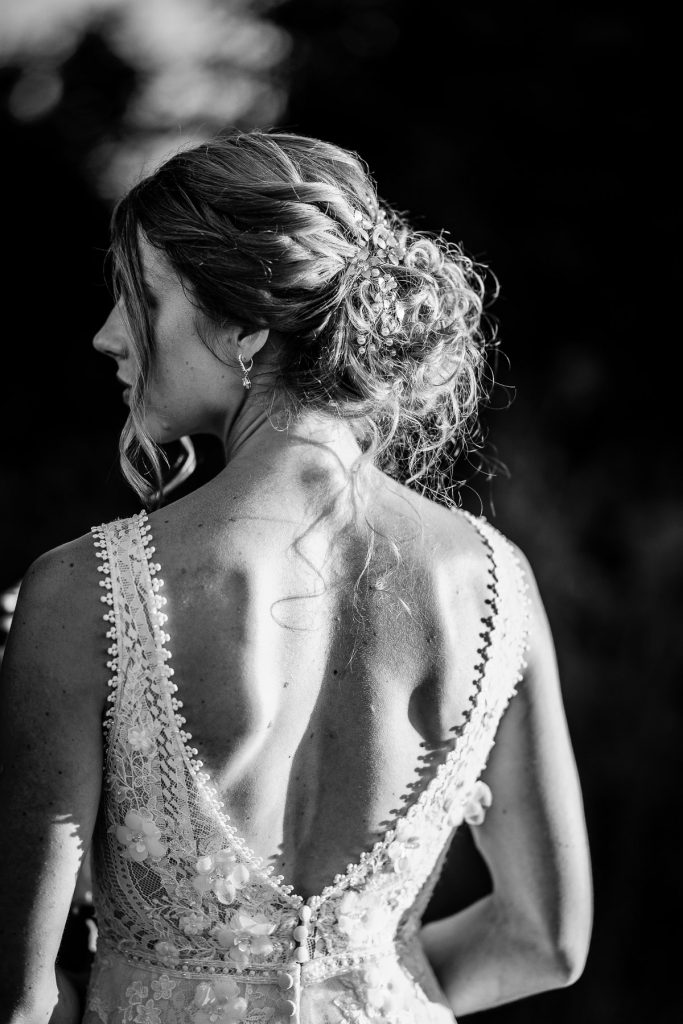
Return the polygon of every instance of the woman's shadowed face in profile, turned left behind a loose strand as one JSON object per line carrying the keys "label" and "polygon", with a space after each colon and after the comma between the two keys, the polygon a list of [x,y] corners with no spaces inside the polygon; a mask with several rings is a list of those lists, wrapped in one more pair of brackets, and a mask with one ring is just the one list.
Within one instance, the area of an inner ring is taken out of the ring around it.
{"label": "woman's shadowed face in profile, turned left behind a loose strand", "polygon": [[[162,444],[184,434],[224,437],[243,396],[240,376],[214,355],[199,336],[198,321],[202,314],[164,254],[142,234],[140,255],[155,339],[144,390],[145,428]],[[98,352],[116,360],[117,377],[122,383],[134,382],[137,361],[121,301],[95,335],[93,345]],[[129,393],[126,387],[126,402]]]}

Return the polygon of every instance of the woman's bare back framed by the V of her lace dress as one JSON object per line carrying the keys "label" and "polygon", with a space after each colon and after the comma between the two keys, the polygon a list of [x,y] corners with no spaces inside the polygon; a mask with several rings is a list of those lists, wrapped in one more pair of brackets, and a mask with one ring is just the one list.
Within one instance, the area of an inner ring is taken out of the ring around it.
{"label": "woman's bare back framed by the V of her lace dress", "polygon": [[239,834],[302,895],[433,775],[485,613],[476,530],[374,480],[355,607],[368,530],[322,479],[222,474],[151,519],[186,728]]}

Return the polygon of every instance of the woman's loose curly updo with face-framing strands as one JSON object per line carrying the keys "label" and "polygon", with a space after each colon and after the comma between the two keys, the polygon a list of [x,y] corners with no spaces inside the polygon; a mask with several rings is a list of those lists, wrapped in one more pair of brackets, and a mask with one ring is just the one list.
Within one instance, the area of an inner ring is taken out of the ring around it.
{"label": "woman's loose curly updo with face-framing strands", "polygon": [[[356,258],[358,216],[376,222],[380,211],[403,253],[386,268],[400,309],[390,347]],[[267,327],[284,337],[273,394],[285,397],[288,416],[308,410],[343,418],[362,460],[443,504],[457,501],[462,481],[454,479],[455,460],[481,446],[477,410],[493,344],[482,317],[484,268],[380,205],[354,154],[254,130],[173,156],[113,215],[115,289],[138,365],[122,469],[145,504],[153,504],[161,474],[160,450],[142,414],[155,343],[139,229],[209,323]]]}

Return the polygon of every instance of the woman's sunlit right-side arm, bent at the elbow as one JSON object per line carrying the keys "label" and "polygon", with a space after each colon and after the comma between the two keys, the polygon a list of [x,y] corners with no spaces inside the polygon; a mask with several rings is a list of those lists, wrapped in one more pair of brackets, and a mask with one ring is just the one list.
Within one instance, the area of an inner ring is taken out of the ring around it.
{"label": "woman's sunlit right-side arm, bent at the elbow", "polygon": [[493,806],[473,828],[494,890],[421,933],[459,1017],[574,981],[591,933],[588,839],[555,651],[520,558],[530,598],[527,669],[483,775]]}

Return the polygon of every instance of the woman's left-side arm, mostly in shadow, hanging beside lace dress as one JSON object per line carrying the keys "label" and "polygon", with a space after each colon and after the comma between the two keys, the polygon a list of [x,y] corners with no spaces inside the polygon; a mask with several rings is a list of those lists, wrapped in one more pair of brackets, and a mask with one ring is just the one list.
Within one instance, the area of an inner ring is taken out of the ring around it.
{"label": "woman's left-side arm, mostly in shadow, hanging beside lace dress", "polygon": [[0,673],[2,1024],[72,1024],[55,971],[101,782],[106,670],[89,538],[39,558],[22,585]]}

